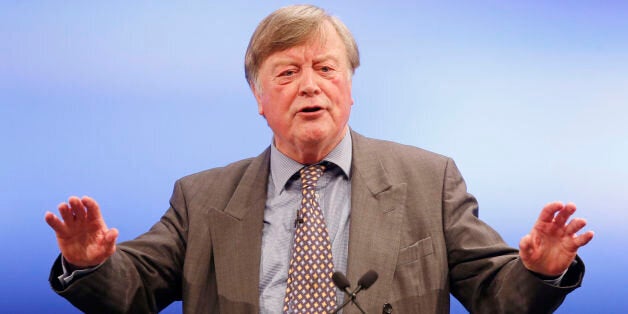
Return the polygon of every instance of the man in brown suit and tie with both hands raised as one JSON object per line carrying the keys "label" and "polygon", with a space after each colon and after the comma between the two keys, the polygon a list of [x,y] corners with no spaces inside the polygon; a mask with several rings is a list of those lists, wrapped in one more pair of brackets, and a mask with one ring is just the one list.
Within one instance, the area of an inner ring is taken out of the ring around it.
{"label": "man in brown suit and tie with both hands raised", "polygon": [[[324,290],[334,270],[355,284],[372,269],[379,279],[357,298],[369,313],[446,313],[449,293],[474,313],[554,310],[580,285],[576,253],[593,237],[576,235],[583,219],[568,222],[575,205],[548,204],[520,251],[509,248],[477,219],[451,159],[349,129],[358,66],[338,19],[307,5],[273,12],[245,60],[271,147],[177,181],[162,219],[119,245],[96,201],[70,197],[63,220],[46,213],[62,253],[53,288],[86,312],[183,300],[185,313],[320,313],[344,300]],[[330,247],[299,255],[302,236]],[[305,280],[301,258],[316,265]]]}

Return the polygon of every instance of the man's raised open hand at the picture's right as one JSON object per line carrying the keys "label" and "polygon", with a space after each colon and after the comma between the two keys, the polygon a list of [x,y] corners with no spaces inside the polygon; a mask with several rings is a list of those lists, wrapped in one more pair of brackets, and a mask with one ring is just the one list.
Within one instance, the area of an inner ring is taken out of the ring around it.
{"label": "man's raised open hand at the picture's right", "polygon": [[519,256],[528,270],[559,276],[574,260],[578,248],[593,239],[593,231],[576,235],[586,225],[584,219],[574,218],[565,224],[575,211],[573,203],[545,205],[532,231],[519,242]]}

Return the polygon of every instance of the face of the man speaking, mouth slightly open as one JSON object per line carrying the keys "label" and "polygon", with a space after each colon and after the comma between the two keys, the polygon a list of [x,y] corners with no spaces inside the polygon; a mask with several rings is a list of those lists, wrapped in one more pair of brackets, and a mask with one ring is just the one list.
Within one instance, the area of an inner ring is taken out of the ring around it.
{"label": "face of the man speaking, mouth slightly open", "polygon": [[344,43],[328,22],[321,33],[270,55],[253,87],[275,145],[304,164],[320,161],[342,140],[353,104]]}

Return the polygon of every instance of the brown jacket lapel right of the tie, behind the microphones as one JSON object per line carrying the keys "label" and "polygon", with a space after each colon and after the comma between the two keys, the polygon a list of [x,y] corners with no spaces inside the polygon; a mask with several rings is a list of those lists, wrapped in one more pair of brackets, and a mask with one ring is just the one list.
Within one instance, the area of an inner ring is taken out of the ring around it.
{"label": "brown jacket lapel right of the tie, behind the microphones", "polygon": [[[393,183],[369,139],[352,132],[351,222],[347,277],[355,289],[359,278],[375,270],[379,278],[359,294],[362,308],[379,309],[392,289],[399,252],[406,184]],[[372,311],[372,310],[371,310]],[[358,313],[355,306],[344,313]]]}

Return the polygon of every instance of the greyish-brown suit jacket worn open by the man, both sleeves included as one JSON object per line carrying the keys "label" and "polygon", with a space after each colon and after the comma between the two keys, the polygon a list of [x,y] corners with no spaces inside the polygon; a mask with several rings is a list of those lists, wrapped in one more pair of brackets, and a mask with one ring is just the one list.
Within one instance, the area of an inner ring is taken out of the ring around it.
{"label": "greyish-brown suit jacket worn open by the man, both sleeves included", "polygon": [[[562,287],[527,271],[515,249],[476,218],[477,203],[449,158],[352,132],[347,277],[377,282],[358,296],[368,313],[448,313],[449,293],[473,313],[551,312],[580,285]],[[118,245],[95,272],[53,288],[89,313],[157,312],[183,300],[185,313],[258,313],[269,150],[187,176],[150,231]],[[349,306],[344,313],[359,313]]]}

